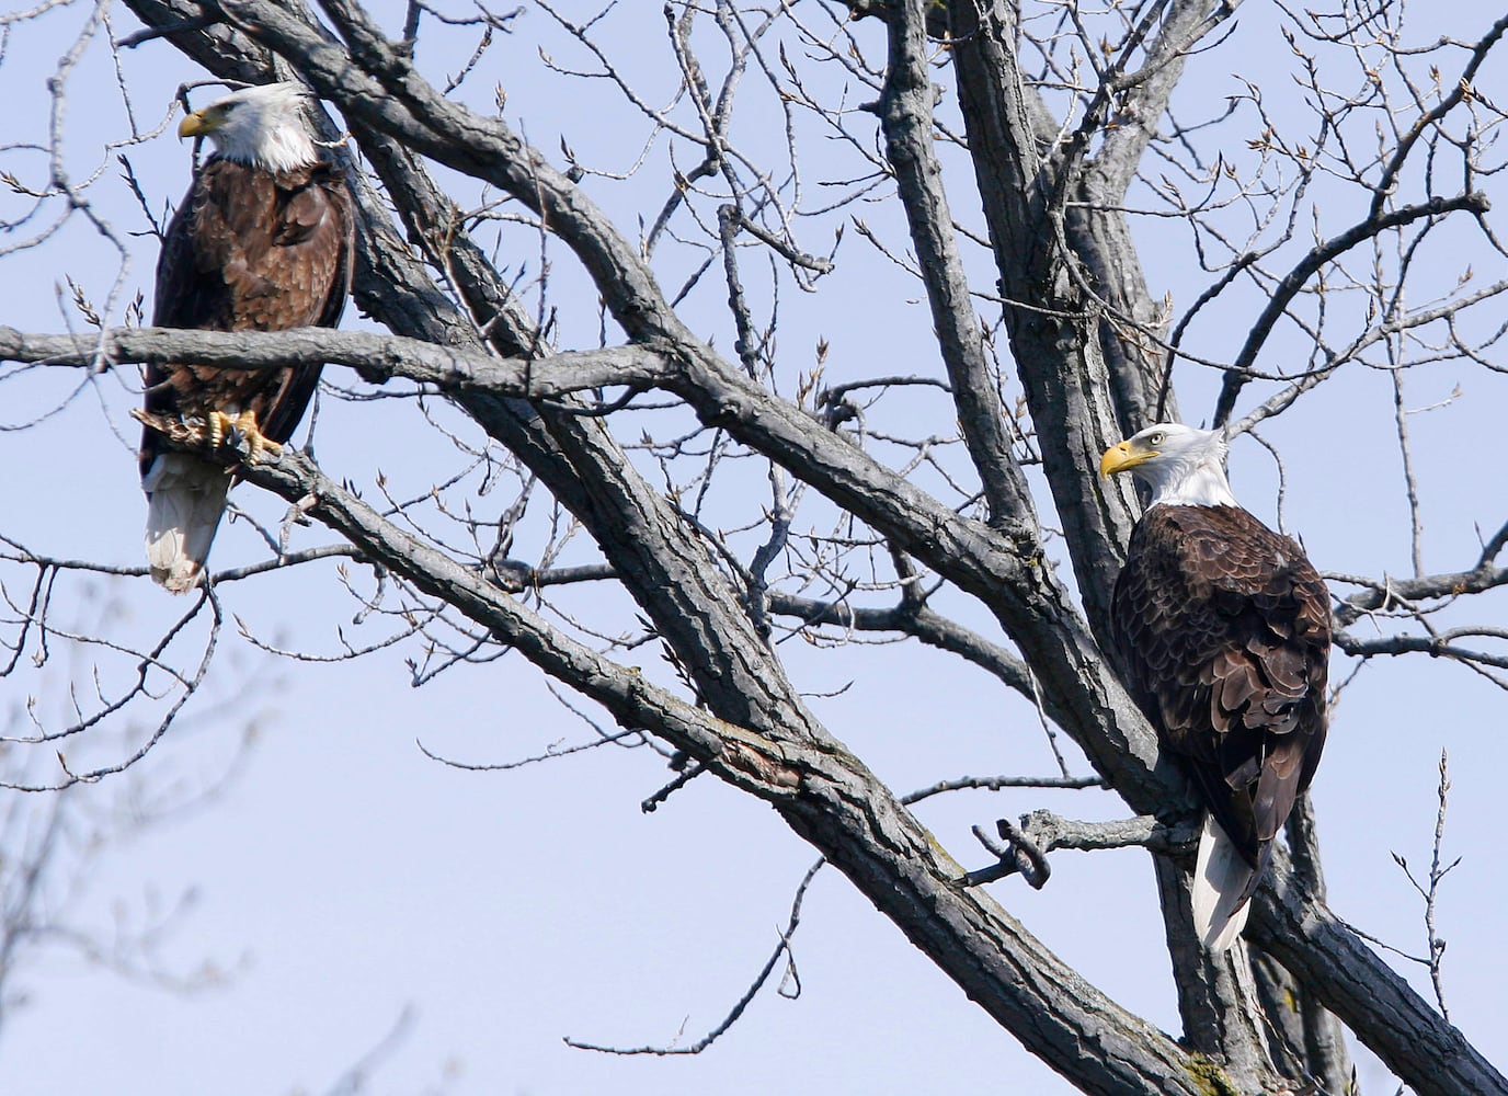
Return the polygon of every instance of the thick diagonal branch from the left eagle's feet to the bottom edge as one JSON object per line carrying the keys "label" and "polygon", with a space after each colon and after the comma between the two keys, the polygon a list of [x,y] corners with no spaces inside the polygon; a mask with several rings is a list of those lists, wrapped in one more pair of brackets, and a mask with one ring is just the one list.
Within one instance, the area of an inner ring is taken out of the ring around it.
{"label": "thick diagonal branch from the left eagle's feet to the bottom edge", "polygon": [[[795,728],[771,737],[682,701],[385,522],[303,455],[288,452],[246,475],[287,499],[315,497],[311,517],[350,538],[366,558],[454,605],[603,704],[621,725],[653,730],[722,779],[775,805],[917,947],[1084,1091],[1205,1091],[1200,1067],[1172,1040],[1087,986],[988,897],[964,888],[964,873],[936,841],[825,733],[807,725],[799,737]],[[1072,990],[1063,992],[1065,986]]]}

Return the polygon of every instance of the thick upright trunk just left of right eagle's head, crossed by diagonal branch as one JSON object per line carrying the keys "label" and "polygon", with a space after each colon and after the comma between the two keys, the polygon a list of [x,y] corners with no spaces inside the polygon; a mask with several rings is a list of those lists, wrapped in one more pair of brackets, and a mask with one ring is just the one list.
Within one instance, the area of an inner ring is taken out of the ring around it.
{"label": "thick upright trunk just left of right eagle's head, crossed by diagonal branch", "polygon": [[[995,244],[1001,294],[1007,302],[1033,306],[1007,303],[1010,347],[1038,427],[1042,467],[1072,552],[1084,609],[1102,635],[1136,501],[1128,484],[1105,488],[1096,476],[1099,454],[1120,434],[1101,350],[1101,309],[1084,291],[1062,214],[1051,208],[1051,194],[1062,181],[1053,176],[1051,161],[1044,158],[1028,122],[1039,110],[1019,68],[1012,9],[955,0],[950,14],[958,39],[953,54],[959,106]],[[1025,653],[1031,660],[1031,653]],[[1098,757],[1095,761],[1098,767]],[[1169,798],[1137,802],[1123,781],[1114,782],[1142,814],[1155,814],[1170,802]],[[1187,876],[1166,861],[1158,861],[1155,870],[1184,1030],[1196,1048],[1235,1063],[1243,1084],[1262,1084],[1258,1070],[1262,1055],[1250,1025],[1224,1024],[1228,1015],[1240,1012],[1237,986],[1224,968],[1206,962],[1193,941]],[[1202,989],[1208,992],[1196,992]]]}

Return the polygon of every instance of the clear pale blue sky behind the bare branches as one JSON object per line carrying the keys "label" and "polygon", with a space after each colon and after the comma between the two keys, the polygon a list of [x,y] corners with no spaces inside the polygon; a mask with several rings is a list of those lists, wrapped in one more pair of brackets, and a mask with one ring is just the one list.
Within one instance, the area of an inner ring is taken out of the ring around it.
{"label": "clear pale blue sky behind the bare branches", "polygon": [[[374,9],[397,33],[401,5]],[[134,29],[128,12],[112,12],[116,36]],[[48,140],[45,81],[59,72],[59,57],[89,15],[75,3],[15,24],[0,60],[0,167],[23,179],[35,179],[45,163],[45,152],[24,148]],[[657,6],[651,15],[615,14],[605,41],[644,81],[648,98],[668,101],[677,77]],[[873,23],[863,29],[872,57],[882,57],[879,30]],[[1286,47],[1268,12],[1243,9],[1235,35],[1231,47],[1190,63],[1182,101],[1243,90],[1226,71],[1240,62],[1256,66],[1246,75],[1267,77],[1270,106],[1283,110],[1285,96],[1297,92],[1282,75]],[[430,62],[431,71],[440,72],[455,71],[474,45],[460,33],[428,42],[440,57]],[[464,98],[486,107],[493,83],[501,83],[510,121],[547,155],[556,157],[566,137],[584,163],[627,170],[645,136],[636,115],[614,106],[600,84],[588,96],[581,81],[547,72],[540,47],[564,65],[590,63],[529,6],[514,35],[487,54]],[[161,42],[124,53],[121,65],[118,72],[100,41],[89,45],[68,74],[59,119],[68,172],[75,179],[100,172],[89,190],[93,210],[130,255],[112,323],[137,289],[149,309],[155,262],[154,241],[137,235],[145,217],[104,151],[104,142],[130,133],[118,75],[131,90],[142,131],[167,118],[179,81],[202,77]],[[952,74],[942,69],[935,78],[950,87],[939,110],[952,119]],[[1505,101],[1505,83],[1502,57],[1494,57],[1481,87]],[[756,112],[749,146],[759,146],[760,125],[769,119]],[[188,146],[170,133],[125,149],[158,213],[178,201],[188,178]],[[1247,136],[1232,131],[1231,145]],[[962,167],[950,161],[955,214],[976,223]],[[661,149],[633,181],[585,185],[633,232],[639,213],[664,201],[667,172]],[[463,201],[474,201],[466,193]],[[879,196],[863,216],[899,241],[899,211],[888,191]],[[1508,202],[1496,178],[1488,196],[1497,207]],[[20,199],[0,201],[6,219],[24,208]],[[65,276],[97,305],[112,297],[119,256],[84,216],[66,219],[42,246],[17,249],[51,232],[60,214],[53,204],[0,237],[0,323],[36,332],[77,327]],[[1336,231],[1356,216],[1354,208],[1338,208],[1327,228]],[[1188,268],[1187,241],[1163,223],[1137,229],[1154,292],[1169,289],[1181,308],[1203,285]],[[822,232],[811,229],[813,250],[823,250],[831,226]],[[1170,232],[1166,249],[1158,232]],[[829,383],[902,371],[942,375],[920,288],[908,289],[852,231],[838,258],[820,298],[783,300],[787,383],[811,366],[819,336],[832,345]],[[685,276],[677,265],[685,261],[668,252],[667,283]],[[977,285],[991,286],[988,256],[970,261]],[[562,345],[594,345],[594,297],[585,295],[564,249],[552,252],[552,262]],[[1491,253],[1440,262],[1475,264],[1484,282],[1508,273]],[[532,277],[532,259],[529,270]],[[1455,273],[1437,271],[1446,279]],[[710,333],[725,330],[719,308],[719,283],[707,282],[688,314],[694,323],[704,320]],[[989,306],[982,309],[988,315]],[[1211,324],[1224,323],[1232,333],[1221,348],[1206,327],[1205,347],[1232,354],[1235,333],[1244,335],[1253,315],[1232,308],[1212,317]],[[368,324],[350,315],[347,326]],[[728,341],[724,335],[719,345]],[[1307,348],[1291,342],[1286,353],[1301,362]],[[1196,369],[1179,374],[1185,419],[1209,416],[1217,380]],[[134,372],[84,380],[75,371],[35,371],[0,386],[0,534],[41,553],[136,565],[143,504],[128,409],[137,400]],[[1321,570],[1410,571],[1392,400],[1384,374],[1359,371],[1265,431],[1286,464],[1282,519],[1301,532]],[[1410,418],[1425,499],[1425,565],[1469,567],[1479,552],[1478,531],[1490,534],[1508,510],[1496,460],[1508,383],[1479,368],[1442,365],[1410,374],[1407,401],[1418,409],[1439,404]],[[39,425],[11,430],[53,407],[60,410]],[[382,469],[395,497],[422,491],[460,461],[416,418],[412,406],[327,396],[317,433],[320,461],[332,476],[362,484]],[[1276,520],[1271,457],[1243,440],[1231,463],[1238,496]],[[751,463],[751,475],[762,479],[762,467]],[[235,497],[274,526],[284,511],[246,487]],[[496,496],[493,502],[504,505]],[[519,550],[525,558],[543,543],[538,528],[523,540],[529,537]],[[297,544],[329,541],[320,529],[296,532]],[[219,565],[264,556],[247,523],[222,528]],[[566,562],[590,558],[573,544]],[[29,576],[15,565],[6,565],[3,582],[12,602],[30,592]],[[369,585],[363,576],[356,582]],[[596,594],[584,589],[561,603],[585,611]],[[262,647],[229,623],[211,684],[163,742],[127,773],[69,791],[57,808],[62,852],[57,874],[45,883],[44,909],[69,932],[27,948],[8,983],[0,1090],[354,1091],[348,1070],[371,1055],[360,1090],[377,1093],[1068,1091],[831,868],[802,906],[798,1000],[777,995],[772,981],[728,1034],[695,1057],[624,1058],[566,1046],[562,1037],[686,1045],[719,1024],[775,947],[795,888],[816,859],[811,849],[771,810],[710,779],[694,781],[644,814],[641,801],[673,775],[648,749],[609,746],[508,772],[463,772],[425,757],[421,745],[464,763],[507,763],[593,731],[519,657],[413,689],[404,663],[412,647],[333,663],[267,653],[271,645],[332,656],[342,635],[353,642],[382,635],[371,623],[353,623],[354,603],[333,564],[234,583],[223,597]],[[977,611],[950,608],[997,636]],[[128,645],[152,642],[185,609],[145,577],[71,574],[53,594],[56,626],[103,632]],[[1482,599],[1461,618],[1500,624],[1503,599]],[[192,632],[178,648],[184,659],[204,629]],[[911,644],[816,650],[790,642],[783,653],[793,678],[813,693],[817,715],[897,791],[965,773],[1054,770],[1030,709],[949,656]],[[645,672],[662,672],[650,665],[659,659],[653,647],[639,657]],[[97,662],[110,666],[109,675],[131,665],[56,636],[47,665],[0,678],[9,733],[26,731],[30,698],[44,725],[66,722],[69,683],[87,693]],[[1332,675],[1350,669],[1338,659]],[[1392,853],[1421,868],[1428,864],[1436,766],[1440,749],[1449,751],[1445,852],[1464,859],[1445,883],[1437,914],[1449,944],[1445,987],[1452,1019],[1499,1066],[1508,1064],[1500,948],[1508,882],[1496,849],[1496,794],[1508,770],[1503,710],[1503,692],[1464,668],[1378,660],[1345,692],[1313,790],[1332,908],[1419,954],[1422,903]],[[152,713],[131,710],[62,748],[74,767],[119,760],[139,748],[152,722]],[[9,746],[0,763],[12,779],[56,779],[56,749]],[[1071,766],[1089,772],[1077,754]],[[0,791],[5,849],[39,840],[54,807],[56,796]],[[986,856],[970,838],[970,825],[1038,807],[1072,817],[1125,814],[1108,794],[1051,791],[955,794],[918,813],[974,867]],[[1176,1031],[1145,853],[1060,852],[1044,891],[1006,880],[992,892],[1113,998]],[[149,947],[121,944],[155,926],[163,930],[149,933]],[[81,951],[80,939],[95,953]],[[1390,962],[1431,993],[1422,968]],[[1366,1091],[1393,1091],[1365,1052],[1359,1063]]]}

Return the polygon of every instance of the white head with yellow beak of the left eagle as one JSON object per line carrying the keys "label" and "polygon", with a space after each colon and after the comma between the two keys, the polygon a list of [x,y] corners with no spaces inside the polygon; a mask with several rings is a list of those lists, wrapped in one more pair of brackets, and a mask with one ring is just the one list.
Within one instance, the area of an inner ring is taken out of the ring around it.
{"label": "white head with yellow beak of the left eagle", "polygon": [[178,136],[208,137],[226,160],[268,172],[308,167],[320,158],[309,98],[297,83],[243,87],[184,118]]}

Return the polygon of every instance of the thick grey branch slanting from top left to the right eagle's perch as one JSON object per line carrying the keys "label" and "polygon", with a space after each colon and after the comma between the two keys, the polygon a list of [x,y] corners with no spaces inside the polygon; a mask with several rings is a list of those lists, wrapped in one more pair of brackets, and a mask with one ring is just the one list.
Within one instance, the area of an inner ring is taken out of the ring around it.
{"label": "thick grey branch slanting from top left to the right eagle's perch", "polygon": [[[725,427],[746,443],[759,437],[756,448],[787,469],[799,469],[808,482],[893,534],[903,547],[915,546],[918,558],[929,565],[938,570],[947,565],[946,570],[956,573],[958,561],[967,561],[965,588],[985,595],[1007,630],[1025,647],[1047,648],[1039,671],[1042,687],[1048,693],[1075,698],[1074,704],[1065,704],[1065,710],[1075,709],[1075,737],[1089,743],[1096,764],[1131,772],[1139,767],[1139,758],[1149,758],[1145,724],[1133,716],[1134,706],[1098,666],[1098,651],[1083,627],[1074,623],[1075,614],[1063,591],[1056,583],[1044,582],[1047,576],[1031,553],[1021,561],[1018,549],[988,535],[982,541],[982,529],[970,529],[949,508],[882,472],[846,442],[816,428],[804,415],[771,400],[757,386],[745,384],[740,371],[712,354],[680,324],[636,252],[615,235],[603,214],[573,182],[550,169],[501,121],[480,118],[437,96],[359,14],[344,5],[332,8],[350,42],[348,50],[333,47],[285,9],[262,0],[237,0],[228,11],[238,20],[255,23],[262,41],[294,60],[320,93],[338,103],[348,116],[400,137],[457,170],[493,182],[543,213],[591,273],[609,311],[630,336],[686,357],[688,398],[704,422]],[[385,93],[357,71],[353,57],[377,72],[382,87],[392,93]],[[1114,425],[1107,424],[1104,439],[1086,443],[1084,452],[1092,449],[1098,455],[1114,433]],[[1001,564],[1010,559],[1016,562],[1003,568]],[[1108,574],[1104,588],[1108,589]],[[1025,597],[1016,592],[1022,589]],[[1044,618],[1036,606],[1047,603],[1053,608]],[[1065,621],[1066,645],[1057,627]],[[1086,696],[1086,678],[1096,680],[1114,698]],[[1102,742],[1098,728],[1105,712],[1125,713],[1128,731]],[[1133,737],[1140,739],[1136,748],[1131,746]],[[1133,778],[1133,782],[1151,775],[1151,767],[1140,770],[1145,776]],[[1152,779],[1146,787],[1155,785],[1161,781]]]}

